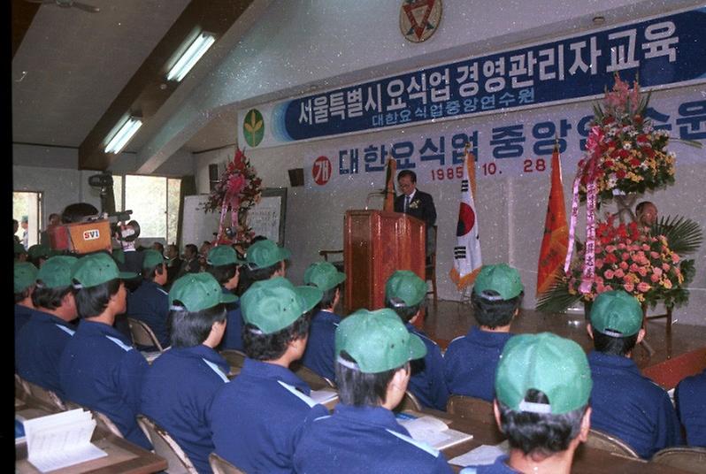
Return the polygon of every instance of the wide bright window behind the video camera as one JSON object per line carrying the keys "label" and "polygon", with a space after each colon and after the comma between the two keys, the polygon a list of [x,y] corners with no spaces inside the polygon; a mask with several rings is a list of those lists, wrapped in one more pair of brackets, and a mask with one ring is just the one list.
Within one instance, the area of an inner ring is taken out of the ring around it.
{"label": "wide bright window behind the video camera", "polygon": [[116,210],[132,210],[140,224],[140,239],[177,240],[181,180],[164,176],[113,176]]}

